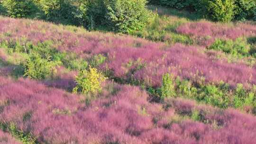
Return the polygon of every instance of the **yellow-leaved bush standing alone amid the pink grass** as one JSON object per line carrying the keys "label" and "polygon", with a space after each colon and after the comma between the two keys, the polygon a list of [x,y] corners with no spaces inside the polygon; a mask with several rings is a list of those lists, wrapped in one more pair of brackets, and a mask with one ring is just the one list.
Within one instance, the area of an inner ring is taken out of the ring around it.
{"label": "yellow-leaved bush standing alone amid the pink grass", "polygon": [[89,71],[82,70],[76,76],[76,87],[73,89],[73,93],[81,92],[82,94],[92,93],[95,94],[101,91],[101,83],[104,82],[105,78],[101,72],[97,69],[89,67]]}

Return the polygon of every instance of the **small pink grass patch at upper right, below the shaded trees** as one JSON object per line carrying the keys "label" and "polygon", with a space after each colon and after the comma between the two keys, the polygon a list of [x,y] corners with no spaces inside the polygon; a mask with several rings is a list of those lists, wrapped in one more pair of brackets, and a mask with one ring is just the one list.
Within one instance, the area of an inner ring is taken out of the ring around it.
{"label": "small pink grass patch at upper right, below the shaded trees", "polygon": [[210,22],[186,23],[176,29],[178,33],[194,36],[199,45],[210,45],[216,38],[236,39],[241,36],[255,36],[256,27],[248,24],[226,26]]}

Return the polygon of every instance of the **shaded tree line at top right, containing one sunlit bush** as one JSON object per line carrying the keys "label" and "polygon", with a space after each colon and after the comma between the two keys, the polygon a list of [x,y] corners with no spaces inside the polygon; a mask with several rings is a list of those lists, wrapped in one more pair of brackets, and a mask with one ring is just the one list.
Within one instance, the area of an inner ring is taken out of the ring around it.
{"label": "shaded tree line at top right, containing one sunlit bush", "polygon": [[215,21],[256,20],[256,0],[149,0],[152,4],[196,11]]}

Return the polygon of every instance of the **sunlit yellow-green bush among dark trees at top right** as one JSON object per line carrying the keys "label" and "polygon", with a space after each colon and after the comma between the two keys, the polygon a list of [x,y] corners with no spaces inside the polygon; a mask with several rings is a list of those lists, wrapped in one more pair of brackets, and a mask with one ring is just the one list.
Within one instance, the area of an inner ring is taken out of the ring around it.
{"label": "sunlit yellow-green bush among dark trees at top right", "polygon": [[234,0],[206,0],[208,15],[212,20],[229,22],[234,18]]}

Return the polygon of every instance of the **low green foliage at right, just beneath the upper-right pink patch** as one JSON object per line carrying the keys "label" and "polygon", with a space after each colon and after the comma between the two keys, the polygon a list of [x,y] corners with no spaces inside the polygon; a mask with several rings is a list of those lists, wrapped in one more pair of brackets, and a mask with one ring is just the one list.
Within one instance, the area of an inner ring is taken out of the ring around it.
{"label": "low green foliage at right, just beneath the upper-right pink patch", "polygon": [[235,57],[246,57],[250,55],[250,45],[243,38],[238,38],[235,41],[217,39],[208,48],[223,51]]}

